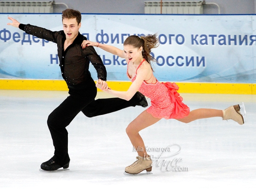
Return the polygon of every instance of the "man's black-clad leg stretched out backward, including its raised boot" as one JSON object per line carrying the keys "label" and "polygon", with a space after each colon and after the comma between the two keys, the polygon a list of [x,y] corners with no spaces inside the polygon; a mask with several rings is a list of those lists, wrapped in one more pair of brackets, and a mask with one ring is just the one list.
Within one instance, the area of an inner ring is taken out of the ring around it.
{"label": "man's black-clad leg stretched out backward, including its raised boot", "polygon": [[104,115],[111,112],[116,112],[120,109],[124,109],[130,106],[148,106],[145,96],[140,92],[134,94],[131,100],[123,100],[121,98],[104,98],[97,99],[88,104],[82,112],[87,117],[95,117],[98,115]]}

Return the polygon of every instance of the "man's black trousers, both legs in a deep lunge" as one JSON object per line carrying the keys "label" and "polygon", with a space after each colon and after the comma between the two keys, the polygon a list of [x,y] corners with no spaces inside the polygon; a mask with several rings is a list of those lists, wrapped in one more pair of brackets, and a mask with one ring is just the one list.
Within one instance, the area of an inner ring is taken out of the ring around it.
{"label": "man's black trousers, both legs in a deep lunge", "polygon": [[80,111],[87,117],[95,117],[116,112],[129,106],[136,106],[140,100],[136,95],[129,101],[120,98],[95,100],[97,88],[92,79],[87,82],[83,89],[69,89],[69,94],[70,96],[49,115],[47,120],[55,147],[53,159],[61,166],[70,161],[66,127]]}

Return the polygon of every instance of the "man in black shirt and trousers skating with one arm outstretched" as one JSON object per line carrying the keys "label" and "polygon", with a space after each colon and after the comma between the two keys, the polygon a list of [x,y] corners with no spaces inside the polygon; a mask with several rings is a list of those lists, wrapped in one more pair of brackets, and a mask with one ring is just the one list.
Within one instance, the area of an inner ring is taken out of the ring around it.
{"label": "man in black shirt and trousers skating with one arm outstretched", "polygon": [[104,115],[129,106],[148,106],[143,94],[137,92],[129,100],[108,98],[95,100],[97,89],[90,75],[89,63],[97,71],[99,80],[103,82],[103,89],[108,85],[105,82],[107,72],[101,58],[93,47],[81,48],[86,37],[79,33],[81,27],[81,13],[73,9],[62,12],[62,31],[50,31],[30,24],[21,24],[8,17],[12,23],[8,25],[17,27],[27,34],[57,43],[58,57],[60,60],[61,74],[67,83],[70,96],[67,97],[48,117],[47,124],[55,147],[54,156],[41,164],[41,169],[46,171],[69,167],[68,133],[66,127],[81,111],[87,117]]}

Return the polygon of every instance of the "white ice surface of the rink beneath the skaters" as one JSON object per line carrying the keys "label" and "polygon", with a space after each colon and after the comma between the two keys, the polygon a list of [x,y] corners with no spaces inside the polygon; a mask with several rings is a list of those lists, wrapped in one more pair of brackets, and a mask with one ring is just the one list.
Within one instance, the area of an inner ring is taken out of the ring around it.
{"label": "white ice surface of the rink beneath the skaters", "polygon": [[[144,110],[130,107],[67,127],[70,167],[40,172],[54,148],[47,117],[66,97],[60,91],[0,90],[0,188],[255,188],[256,95],[181,94],[191,110],[244,102],[247,122],[220,117],[180,123],[160,120],[140,132],[153,159],[152,175],[125,176],[137,153],[125,128]],[[97,97],[109,97],[98,92]]]}

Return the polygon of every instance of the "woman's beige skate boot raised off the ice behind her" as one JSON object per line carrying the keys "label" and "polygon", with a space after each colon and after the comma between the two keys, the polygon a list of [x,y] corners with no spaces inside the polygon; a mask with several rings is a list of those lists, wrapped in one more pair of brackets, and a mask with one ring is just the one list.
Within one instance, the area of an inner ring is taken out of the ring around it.
{"label": "woman's beige skate boot raised off the ice behind her", "polygon": [[[242,113],[240,112],[242,110]],[[237,104],[234,106],[230,106],[225,110],[222,110],[223,112],[223,120],[234,120],[240,125],[244,124],[244,116],[246,115],[244,103],[241,105]]]}

